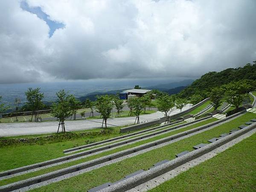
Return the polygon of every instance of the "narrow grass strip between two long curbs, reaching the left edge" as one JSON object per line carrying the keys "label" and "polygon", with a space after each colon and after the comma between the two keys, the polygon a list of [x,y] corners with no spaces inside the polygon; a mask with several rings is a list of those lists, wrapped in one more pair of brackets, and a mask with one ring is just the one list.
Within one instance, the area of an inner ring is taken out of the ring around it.
{"label": "narrow grass strip between two long curbs, reaching the left edge", "polygon": [[41,169],[41,170],[36,171],[36,172],[30,172],[30,173],[27,173],[27,174],[24,174],[24,175],[11,177],[9,179],[0,180],[0,186],[6,185],[6,184],[9,184],[9,183],[13,183],[13,182],[16,182],[16,181],[19,181],[19,180],[24,180],[24,179],[27,179],[27,178],[30,178],[30,177],[35,177],[35,176],[38,176],[38,175],[42,175],[42,174],[45,174],[45,173],[48,173],[48,172],[53,172],[53,171],[56,171],[58,169],[63,169],[63,168],[69,167],[69,166],[79,164],[79,163],[84,163],[84,162],[87,162],[87,161],[90,161],[90,160],[93,160],[93,159],[96,159],[96,158],[99,158],[99,157],[104,157],[106,155],[113,154],[113,153],[116,153],[116,152],[119,152],[119,151],[123,151],[123,150],[129,149],[129,148],[136,147],[136,146],[140,146],[140,145],[143,145],[145,143],[149,143],[149,142],[152,142],[152,141],[155,141],[155,140],[162,139],[164,137],[169,137],[171,135],[174,135],[174,134],[177,134],[177,133],[180,133],[180,132],[183,132],[183,131],[187,131],[187,130],[190,130],[192,128],[196,128],[196,127],[199,127],[201,125],[205,125],[205,124],[208,124],[210,122],[214,122],[216,120],[218,120],[218,119],[215,119],[215,118],[207,119],[206,121],[196,123],[195,125],[190,125],[186,128],[181,128],[179,130],[172,131],[172,132],[166,133],[166,134],[162,134],[162,135],[159,135],[159,136],[147,139],[147,140],[139,141],[137,143],[133,143],[133,144],[130,144],[130,145],[121,146],[119,148],[115,148],[115,149],[110,150],[110,151],[105,151],[105,152],[95,154],[95,155],[92,155],[92,156],[89,156],[89,157],[81,158],[79,160],[75,160],[75,161],[72,161],[72,162],[69,162],[69,163],[63,163],[61,165],[49,167],[49,168],[46,168],[46,169]]}

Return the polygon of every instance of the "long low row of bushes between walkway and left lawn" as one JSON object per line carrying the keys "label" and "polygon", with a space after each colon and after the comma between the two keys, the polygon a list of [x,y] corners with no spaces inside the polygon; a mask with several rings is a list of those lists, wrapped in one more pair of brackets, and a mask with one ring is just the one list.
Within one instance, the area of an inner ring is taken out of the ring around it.
{"label": "long low row of bushes between walkway and left lawn", "polygon": [[[12,138],[12,139],[2,139],[0,140],[0,147],[11,146],[11,145],[23,145],[23,144],[39,144],[43,145],[46,143],[58,143],[68,140],[74,140],[82,137],[98,137],[103,135],[111,134],[113,131],[106,129],[101,131],[87,131],[72,133],[66,132],[65,134],[52,134],[42,137],[31,137],[31,138]],[[87,142],[89,143],[89,142]]]}

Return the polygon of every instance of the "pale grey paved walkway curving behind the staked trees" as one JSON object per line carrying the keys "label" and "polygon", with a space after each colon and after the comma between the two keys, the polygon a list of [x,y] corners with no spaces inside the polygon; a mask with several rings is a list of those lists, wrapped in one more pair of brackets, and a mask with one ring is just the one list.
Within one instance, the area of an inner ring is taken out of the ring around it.
{"label": "pale grey paved walkway curving behind the staked trees", "polygon": [[[191,108],[192,105],[188,104],[183,108],[182,111]],[[179,109],[175,109],[170,114],[179,113]],[[157,111],[155,113],[141,115],[140,122],[152,121],[163,117],[163,113]],[[123,126],[123,125],[132,125],[135,121],[134,116],[132,117],[119,117],[108,119],[108,126]],[[66,121],[65,128],[66,131],[79,131],[87,130],[93,128],[101,128],[102,119],[81,119],[75,121]],[[17,122],[17,123],[0,123],[0,137],[8,136],[18,136],[18,135],[32,135],[32,134],[47,134],[55,133],[58,129],[58,122]]]}

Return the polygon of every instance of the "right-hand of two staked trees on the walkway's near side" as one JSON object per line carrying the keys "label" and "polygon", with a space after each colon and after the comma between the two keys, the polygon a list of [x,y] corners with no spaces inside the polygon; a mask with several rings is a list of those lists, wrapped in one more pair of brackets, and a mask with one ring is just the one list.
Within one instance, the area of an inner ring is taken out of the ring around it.
{"label": "right-hand of two staked trees on the walkway's near side", "polygon": [[95,107],[97,112],[101,113],[103,118],[102,127],[105,123],[105,128],[107,128],[107,120],[111,116],[111,111],[113,109],[112,97],[105,96],[96,96],[97,100],[95,101]]}

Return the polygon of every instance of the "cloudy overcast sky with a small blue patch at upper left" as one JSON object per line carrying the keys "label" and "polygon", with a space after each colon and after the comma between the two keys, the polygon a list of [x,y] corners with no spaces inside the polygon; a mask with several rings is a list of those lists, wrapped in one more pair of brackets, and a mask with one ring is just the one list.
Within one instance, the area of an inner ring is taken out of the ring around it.
{"label": "cloudy overcast sky with a small blue patch at upper left", "polygon": [[0,0],[0,83],[197,78],[256,60],[256,0]]}

